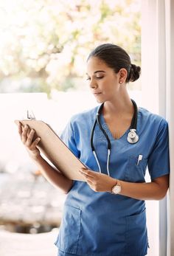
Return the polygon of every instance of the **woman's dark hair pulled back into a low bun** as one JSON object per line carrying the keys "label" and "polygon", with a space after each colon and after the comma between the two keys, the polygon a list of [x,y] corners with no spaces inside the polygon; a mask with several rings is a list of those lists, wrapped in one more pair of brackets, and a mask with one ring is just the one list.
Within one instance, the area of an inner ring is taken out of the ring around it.
{"label": "woman's dark hair pulled back into a low bun", "polygon": [[88,59],[91,57],[97,57],[103,60],[109,67],[114,69],[114,72],[118,73],[119,69],[126,69],[128,76],[126,78],[126,83],[133,82],[139,79],[141,68],[131,64],[130,57],[124,49],[115,44],[101,44],[94,49]]}

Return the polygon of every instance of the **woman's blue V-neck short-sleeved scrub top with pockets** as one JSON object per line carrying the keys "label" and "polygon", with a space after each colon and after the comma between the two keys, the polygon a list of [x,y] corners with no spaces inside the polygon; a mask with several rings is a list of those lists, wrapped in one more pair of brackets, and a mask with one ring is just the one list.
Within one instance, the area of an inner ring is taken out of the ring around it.
{"label": "woman's blue V-neck short-sleeved scrub top with pockets", "polygon": [[[74,115],[61,139],[85,165],[98,172],[90,145],[97,109],[98,106]],[[102,115],[100,120],[111,139],[111,177],[121,181],[145,182],[147,166],[151,180],[170,172],[168,125],[163,117],[139,107],[136,129],[139,142],[136,144],[127,141],[129,129],[119,139],[114,139]],[[105,174],[107,145],[97,125],[94,148],[102,173]],[[142,160],[136,165],[139,154],[142,154]],[[86,182],[74,181],[64,204],[60,232],[55,241],[59,255],[146,255],[148,239],[145,211],[145,201],[108,192],[94,192]]]}

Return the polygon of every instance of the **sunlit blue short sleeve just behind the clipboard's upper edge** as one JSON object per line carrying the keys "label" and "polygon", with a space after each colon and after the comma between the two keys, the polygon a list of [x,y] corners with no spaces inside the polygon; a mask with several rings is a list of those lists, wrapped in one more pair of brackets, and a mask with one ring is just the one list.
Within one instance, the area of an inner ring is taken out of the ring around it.
{"label": "sunlit blue short sleeve just behind the clipboard's upper edge", "polygon": [[63,132],[60,135],[60,139],[66,144],[66,146],[74,153],[75,156],[80,158],[80,151],[77,150],[75,142],[74,129],[71,120],[68,122]]}

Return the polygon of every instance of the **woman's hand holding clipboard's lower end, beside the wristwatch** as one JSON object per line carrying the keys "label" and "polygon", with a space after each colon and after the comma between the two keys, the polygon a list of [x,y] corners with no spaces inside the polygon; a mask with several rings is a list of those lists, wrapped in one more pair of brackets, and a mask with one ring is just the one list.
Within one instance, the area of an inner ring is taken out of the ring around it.
{"label": "woman's hand holding clipboard's lower end, beside the wristwatch", "polygon": [[112,187],[116,184],[116,179],[104,173],[97,173],[86,168],[81,168],[79,171],[85,176],[89,187],[95,192],[111,192]]}

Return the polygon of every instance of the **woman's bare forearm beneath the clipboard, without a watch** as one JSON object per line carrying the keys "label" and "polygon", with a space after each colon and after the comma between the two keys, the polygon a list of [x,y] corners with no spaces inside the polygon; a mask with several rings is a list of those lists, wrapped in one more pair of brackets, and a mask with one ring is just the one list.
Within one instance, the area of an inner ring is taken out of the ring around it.
{"label": "woman's bare forearm beneath the clipboard, without a watch", "polygon": [[33,159],[33,161],[49,183],[54,187],[59,187],[64,193],[69,192],[72,187],[72,180],[66,178],[59,170],[49,165],[42,156],[38,156],[37,159]]}

